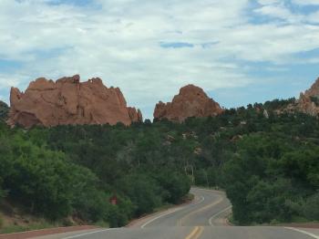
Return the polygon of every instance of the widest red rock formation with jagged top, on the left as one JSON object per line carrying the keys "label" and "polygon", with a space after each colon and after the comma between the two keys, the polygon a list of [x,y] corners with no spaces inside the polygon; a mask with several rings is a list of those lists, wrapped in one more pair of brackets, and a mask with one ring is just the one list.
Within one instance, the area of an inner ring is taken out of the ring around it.
{"label": "widest red rock formation with jagged top, on the left", "polygon": [[25,93],[11,88],[8,123],[26,128],[35,125],[110,124],[141,121],[135,108],[128,108],[119,88],[107,88],[100,78],[79,82],[79,76],[32,81]]}

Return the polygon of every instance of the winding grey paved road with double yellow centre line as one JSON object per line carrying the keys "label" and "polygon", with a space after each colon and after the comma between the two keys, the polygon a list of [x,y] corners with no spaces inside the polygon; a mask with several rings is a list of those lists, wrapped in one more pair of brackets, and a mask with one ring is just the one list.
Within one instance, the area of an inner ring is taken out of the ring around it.
{"label": "winding grey paved road with double yellow centre line", "polygon": [[192,188],[193,203],[158,213],[129,227],[56,234],[37,239],[319,239],[319,230],[228,226],[231,204],[223,192]]}

